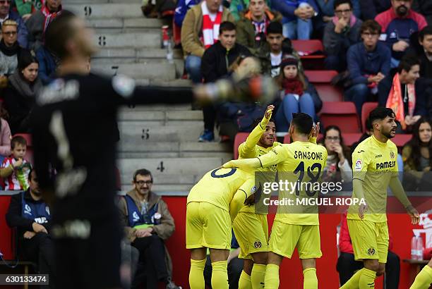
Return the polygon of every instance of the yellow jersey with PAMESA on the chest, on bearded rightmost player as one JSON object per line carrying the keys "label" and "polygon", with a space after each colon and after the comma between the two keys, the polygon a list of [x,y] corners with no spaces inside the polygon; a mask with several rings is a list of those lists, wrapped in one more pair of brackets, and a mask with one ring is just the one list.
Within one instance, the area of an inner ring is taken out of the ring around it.
{"label": "yellow jersey with PAMESA on the chest, on bearded rightmost player", "polygon": [[[391,140],[383,143],[373,135],[361,142],[352,153],[353,179],[363,180],[368,210],[364,220],[376,223],[387,221],[387,188],[390,178],[397,175],[397,147]],[[352,192],[353,198],[359,198]],[[359,205],[349,207],[347,219],[360,219]]]}

